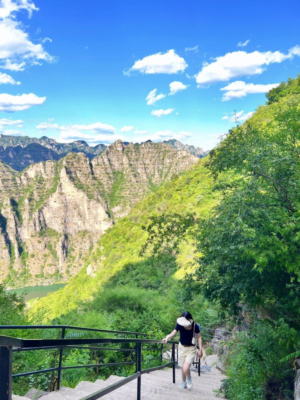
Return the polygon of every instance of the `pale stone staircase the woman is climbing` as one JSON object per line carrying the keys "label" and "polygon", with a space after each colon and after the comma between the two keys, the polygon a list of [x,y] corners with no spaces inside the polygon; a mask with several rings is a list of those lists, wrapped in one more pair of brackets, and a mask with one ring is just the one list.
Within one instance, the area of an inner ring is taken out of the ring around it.
{"label": "pale stone staircase the woman is climbing", "polygon": [[[141,399],[142,400],[213,400],[217,399],[217,393],[214,390],[220,388],[221,380],[224,375],[221,374],[215,366],[201,366],[201,376],[198,376],[196,368],[191,367],[191,376],[193,389],[179,389],[181,383],[181,370],[176,368],[176,384],[172,381],[172,369],[154,371],[141,376]],[[61,388],[58,392],[51,392],[40,400],[79,400],[89,394],[103,389],[115,382],[121,380],[121,376],[111,375],[107,380],[97,379],[92,382],[79,382],[75,389]],[[137,398],[137,380],[133,380],[121,388],[101,397],[104,400],[136,400]],[[12,396],[12,400],[29,400],[28,397]]]}

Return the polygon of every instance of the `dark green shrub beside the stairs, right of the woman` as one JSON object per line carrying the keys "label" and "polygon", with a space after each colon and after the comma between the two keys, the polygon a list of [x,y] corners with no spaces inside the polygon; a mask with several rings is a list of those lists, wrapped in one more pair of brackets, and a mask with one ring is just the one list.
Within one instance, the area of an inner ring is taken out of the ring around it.
{"label": "dark green shrub beside the stairs, right of the woman", "polygon": [[280,359],[286,348],[279,344],[270,324],[255,322],[231,342],[226,360],[228,379],[223,383],[230,400],[292,400],[294,372]]}

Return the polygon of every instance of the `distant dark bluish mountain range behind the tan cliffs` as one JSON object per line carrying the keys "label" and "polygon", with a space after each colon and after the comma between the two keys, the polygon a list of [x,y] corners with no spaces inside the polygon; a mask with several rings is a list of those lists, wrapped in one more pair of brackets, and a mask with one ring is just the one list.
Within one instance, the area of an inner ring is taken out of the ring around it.
{"label": "distant dark bluish mountain range behind the tan cliffs", "polygon": [[[164,143],[177,150],[186,150],[199,158],[206,155],[201,147],[195,148],[195,146],[185,145],[175,139]],[[129,142],[124,142],[124,144],[129,145]],[[76,140],[72,143],[58,143],[56,140],[46,136],[31,138],[29,136],[0,134],[0,160],[16,171],[22,171],[27,166],[40,161],[58,161],[70,152],[82,152],[91,160],[93,157],[103,153],[106,148],[105,144],[97,144],[94,147],[89,146],[84,140]]]}

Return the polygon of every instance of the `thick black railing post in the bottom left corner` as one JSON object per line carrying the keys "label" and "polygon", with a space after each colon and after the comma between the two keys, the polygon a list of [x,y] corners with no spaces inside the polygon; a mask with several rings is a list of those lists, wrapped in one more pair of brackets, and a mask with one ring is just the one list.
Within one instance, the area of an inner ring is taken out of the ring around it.
{"label": "thick black railing post in the bottom left corner", "polygon": [[0,346],[0,399],[12,400],[12,346]]}

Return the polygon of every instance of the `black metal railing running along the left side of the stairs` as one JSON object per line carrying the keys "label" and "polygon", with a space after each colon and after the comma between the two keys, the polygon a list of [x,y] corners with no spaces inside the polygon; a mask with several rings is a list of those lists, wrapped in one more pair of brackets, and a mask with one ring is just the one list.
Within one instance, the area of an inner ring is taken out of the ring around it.
{"label": "black metal railing running along the left side of the stairs", "polygon": [[[113,390],[125,385],[131,380],[137,379],[137,400],[141,399],[141,375],[149,373],[151,371],[160,370],[166,367],[173,368],[173,383],[175,383],[175,365],[177,364],[175,357],[175,344],[178,342],[168,342],[171,344],[171,361],[162,364],[163,362],[163,342],[161,340],[138,338],[138,336],[148,336],[147,334],[140,332],[125,332],[125,331],[112,331],[103,329],[93,329],[93,328],[81,328],[67,325],[55,325],[55,326],[0,326],[0,329],[62,329],[62,337],[60,339],[20,339],[13,338],[10,336],[0,335],[0,399],[1,400],[11,400],[12,399],[12,378],[18,378],[21,376],[29,376],[34,374],[40,374],[44,372],[55,372],[57,371],[57,381],[56,389],[60,388],[61,373],[63,370],[73,369],[73,368],[95,368],[95,367],[107,367],[107,366],[119,366],[119,365],[133,365],[135,364],[135,373],[127,378],[120,380],[119,382],[107,386],[81,400],[96,400],[105,394],[112,392]],[[66,329],[75,330],[86,330],[95,332],[108,332],[114,334],[126,334],[134,335],[135,338],[65,338]],[[90,345],[99,344],[135,344],[135,348],[107,348],[107,347],[96,347]],[[160,344],[159,347],[147,347],[147,350],[160,350],[161,354],[157,359],[161,360],[161,365],[147,368],[145,370],[141,369],[142,363],[142,344]],[[89,346],[87,346],[89,345]],[[64,348],[86,348],[86,349],[97,349],[97,350],[116,350],[121,352],[135,352],[135,361],[129,362],[117,362],[109,364],[88,364],[81,366],[63,366],[63,352]],[[46,349],[60,349],[60,356],[58,366],[54,368],[48,368],[44,370],[37,370],[31,372],[22,372],[20,374],[12,374],[12,354],[13,352],[22,352],[30,350],[46,350]],[[178,355],[177,355],[178,359]],[[200,360],[197,362],[200,369]]]}

